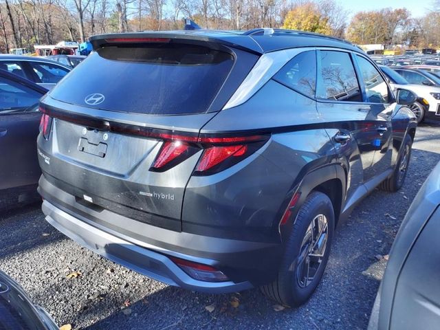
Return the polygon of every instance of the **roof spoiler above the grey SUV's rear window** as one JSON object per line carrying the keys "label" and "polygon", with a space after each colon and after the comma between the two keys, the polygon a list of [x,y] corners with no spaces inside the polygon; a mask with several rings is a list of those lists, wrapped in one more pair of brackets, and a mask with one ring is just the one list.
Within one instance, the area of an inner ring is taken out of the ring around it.
{"label": "roof spoiler above the grey SUV's rear window", "polygon": [[142,45],[145,43],[192,43],[218,49],[220,45],[238,48],[261,55],[260,45],[245,34],[208,30],[179,30],[164,32],[129,32],[91,36],[89,39],[94,50],[109,45]]}

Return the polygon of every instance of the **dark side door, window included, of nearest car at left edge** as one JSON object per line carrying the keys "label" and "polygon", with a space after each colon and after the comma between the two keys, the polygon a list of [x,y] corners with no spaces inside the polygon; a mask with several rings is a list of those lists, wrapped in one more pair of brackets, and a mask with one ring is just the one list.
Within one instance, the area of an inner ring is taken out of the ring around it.
{"label": "dark side door, window included, of nearest car at left edge", "polygon": [[36,136],[43,93],[0,76],[0,190],[36,184]]}

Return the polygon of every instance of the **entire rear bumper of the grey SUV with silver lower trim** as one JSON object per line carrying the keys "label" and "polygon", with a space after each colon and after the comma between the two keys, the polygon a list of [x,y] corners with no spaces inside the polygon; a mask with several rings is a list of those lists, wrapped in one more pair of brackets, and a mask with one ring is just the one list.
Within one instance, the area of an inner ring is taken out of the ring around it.
{"label": "entire rear bumper of the grey SUV with silver lower trim", "polygon": [[[140,223],[109,210],[94,210],[41,176],[46,220],[74,241],[157,281],[199,292],[226,293],[273,281],[281,243],[241,241],[177,232]],[[211,265],[230,281],[197,281],[168,256]]]}

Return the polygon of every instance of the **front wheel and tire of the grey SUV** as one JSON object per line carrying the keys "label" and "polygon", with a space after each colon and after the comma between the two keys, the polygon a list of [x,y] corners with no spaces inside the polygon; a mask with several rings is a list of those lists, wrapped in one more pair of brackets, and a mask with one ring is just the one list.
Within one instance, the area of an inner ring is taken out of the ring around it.
{"label": "front wheel and tire of the grey SUV", "polygon": [[404,185],[406,173],[408,171],[408,165],[411,158],[411,146],[412,138],[410,135],[406,135],[404,142],[401,145],[401,151],[399,159],[397,160],[396,168],[394,169],[393,175],[388,177],[385,181],[380,184],[380,188],[389,192],[396,192]]}

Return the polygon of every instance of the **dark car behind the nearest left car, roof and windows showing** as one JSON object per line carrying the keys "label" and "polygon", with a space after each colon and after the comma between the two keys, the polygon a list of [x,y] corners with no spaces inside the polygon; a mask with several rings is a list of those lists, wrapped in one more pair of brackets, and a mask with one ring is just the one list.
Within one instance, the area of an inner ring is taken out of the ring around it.
{"label": "dark car behind the nearest left car, roof and windows showing", "polygon": [[0,69],[52,89],[71,70],[47,58],[0,54]]}

